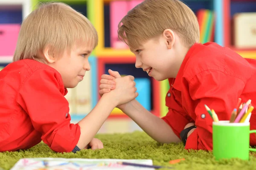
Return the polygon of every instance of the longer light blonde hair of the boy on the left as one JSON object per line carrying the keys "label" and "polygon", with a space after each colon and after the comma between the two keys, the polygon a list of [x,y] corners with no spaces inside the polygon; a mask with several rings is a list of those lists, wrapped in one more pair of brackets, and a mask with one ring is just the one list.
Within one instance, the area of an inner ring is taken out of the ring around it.
{"label": "longer light blonde hair of the boy on the left", "polygon": [[38,52],[50,46],[56,58],[69,51],[76,43],[93,47],[98,35],[92,23],[65,3],[42,3],[21,24],[13,61],[33,59],[46,63]]}

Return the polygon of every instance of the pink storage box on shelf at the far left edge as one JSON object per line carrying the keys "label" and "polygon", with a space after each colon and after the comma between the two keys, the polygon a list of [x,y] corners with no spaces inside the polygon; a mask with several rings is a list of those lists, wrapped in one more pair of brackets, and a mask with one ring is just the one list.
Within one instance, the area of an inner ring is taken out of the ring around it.
{"label": "pink storage box on shelf at the far left edge", "polygon": [[20,24],[0,24],[0,57],[14,55]]}

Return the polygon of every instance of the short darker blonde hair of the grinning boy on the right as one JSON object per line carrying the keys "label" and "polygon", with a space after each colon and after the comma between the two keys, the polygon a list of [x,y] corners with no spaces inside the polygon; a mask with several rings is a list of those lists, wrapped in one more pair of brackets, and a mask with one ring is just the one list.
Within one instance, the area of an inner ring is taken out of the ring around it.
{"label": "short darker blonde hair of the grinning boy on the right", "polygon": [[118,37],[136,49],[145,41],[159,37],[165,29],[176,32],[185,46],[199,42],[198,19],[179,0],[144,0],[119,22]]}

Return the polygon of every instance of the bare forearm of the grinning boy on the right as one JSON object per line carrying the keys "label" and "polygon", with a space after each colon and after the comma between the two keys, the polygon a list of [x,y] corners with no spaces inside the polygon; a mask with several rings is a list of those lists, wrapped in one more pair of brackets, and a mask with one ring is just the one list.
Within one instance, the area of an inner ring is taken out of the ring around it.
{"label": "bare forearm of the grinning boy on the right", "polygon": [[137,100],[129,102],[122,111],[157,142],[180,142],[180,138],[175,135],[172,128],[163,119],[153,115]]}

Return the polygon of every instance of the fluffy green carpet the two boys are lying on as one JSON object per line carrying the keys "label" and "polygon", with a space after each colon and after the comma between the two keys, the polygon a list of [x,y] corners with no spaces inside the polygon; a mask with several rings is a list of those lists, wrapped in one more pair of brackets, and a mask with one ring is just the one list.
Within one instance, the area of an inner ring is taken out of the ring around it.
{"label": "fluffy green carpet the two boys are lying on", "polygon": [[[0,153],[0,170],[9,170],[20,158],[32,157],[152,159],[154,165],[172,166],[175,170],[252,170],[256,167],[253,155],[250,156],[250,161],[215,161],[211,152],[188,152],[182,144],[158,144],[142,132],[100,134],[96,137],[102,140],[104,149],[61,154],[54,153],[46,144],[40,143],[29,150]],[[179,158],[185,158],[185,161],[169,164],[170,160]]]}

